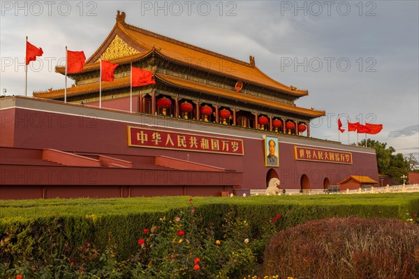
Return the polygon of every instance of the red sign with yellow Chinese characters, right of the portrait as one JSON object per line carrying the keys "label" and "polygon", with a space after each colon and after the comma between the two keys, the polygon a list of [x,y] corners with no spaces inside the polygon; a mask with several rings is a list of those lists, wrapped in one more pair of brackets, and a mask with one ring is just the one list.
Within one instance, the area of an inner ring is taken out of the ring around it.
{"label": "red sign with yellow Chinese characters, right of the portrait", "polygon": [[306,148],[294,145],[295,159],[303,161],[352,164],[352,153],[321,148]]}

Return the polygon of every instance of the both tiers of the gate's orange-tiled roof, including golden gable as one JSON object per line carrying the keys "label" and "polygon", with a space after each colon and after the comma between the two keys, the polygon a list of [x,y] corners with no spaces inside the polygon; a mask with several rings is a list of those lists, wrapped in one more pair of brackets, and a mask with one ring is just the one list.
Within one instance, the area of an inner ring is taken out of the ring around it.
{"label": "both tiers of the gate's orange-tiled roof, including golden gable", "polygon": [[[247,63],[210,50],[198,48],[195,45],[177,41],[173,38],[127,24],[125,22],[125,16],[124,12],[120,13],[118,11],[117,22],[112,31],[110,31],[108,37],[96,52],[87,59],[83,71],[80,73],[72,73],[71,76],[75,77],[90,71],[98,71],[100,59],[106,59],[112,63],[121,65],[137,62],[151,55],[158,55],[163,59],[168,59],[170,62],[196,67],[200,71],[209,71],[210,73],[226,76],[233,80],[264,87],[268,90],[293,96],[294,99],[308,94],[307,90],[298,90],[296,87],[284,85],[267,76],[256,67],[253,57],[250,57],[250,63]],[[117,51],[115,51],[115,49],[117,49]],[[64,74],[64,66],[57,66],[56,71]],[[166,81],[166,83],[170,83],[171,85],[182,85],[189,89],[202,90],[203,92],[219,94],[220,96],[228,95],[228,93],[235,93],[233,90],[199,84],[186,79],[182,80],[182,78],[175,78],[161,73],[156,73],[154,77],[157,77],[161,81]],[[113,83],[103,83],[102,90],[112,90],[122,87],[129,87],[129,78],[115,78]],[[76,96],[95,91],[98,91],[98,83],[76,85],[67,89],[67,96]],[[292,113],[302,113],[308,117],[320,117],[325,115],[325,111],[323,110],[299,108],[287,103],[272,101],[258,96],[245,94],[240,94],[240,96],[237,95],[238,94],[235,95],[235,98],[244,98],[244,101],[253,101],[263,106],[279,108]],[[64,90],[34,92],[34,96],[59,99],[64,96]]]}

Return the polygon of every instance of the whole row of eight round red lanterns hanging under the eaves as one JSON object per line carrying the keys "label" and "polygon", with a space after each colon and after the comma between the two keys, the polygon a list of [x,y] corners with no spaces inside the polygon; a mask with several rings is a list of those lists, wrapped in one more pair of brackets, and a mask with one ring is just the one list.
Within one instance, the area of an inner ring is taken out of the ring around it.
{"label": "whole row of eight round red lanterns hanging under the eaves", "polygon": [[[163,98],[160,98],[157,101],[157,106],[163,108],[163,115],[166,115],[166,109],[170,108],[170,106],[172,106],[172,101],[170,101],[170,99],[163,96]],[[187,118],[187,113],[190,113],[193,110],[192,104],[188,103],[187,101],[184,101],[183,103],[180,103],[179,108],[182,111],[182,113],[184,113],[185,118]],[[204,115],[204,117],[205,117],[204,120],[208,121],[208,116],[212,114],[212,108],[210,106],[207,106],[207,105],[201,106],[200,113],[202,115]],[[222,110],[219,111],[219,116],[223,120],[224,124],[226,124],[226,119],[228,117],[230,117],[230,115],[231,115],[230,110],[226,110],[226,108],[223,108]],[[258,123],[260,125],[262,125],[262,127],[264,127],[268,122],[269,122],[269,120],[267,119],[266,116],[262,115],[262,116],[258,117]],[[276,130],[278,130],[278,128],[282,127],[282,121],[278,120],[278,119],[274,119],[272,121],[272,126]],[[294,122],[286,122],[285,127],[288,130],[294,129],[295,128],[295,123]],[[298,125],[298,131],[303,132],[306,129],[307,129],[307,126],[304,125],[304,124],[299,124]]]}

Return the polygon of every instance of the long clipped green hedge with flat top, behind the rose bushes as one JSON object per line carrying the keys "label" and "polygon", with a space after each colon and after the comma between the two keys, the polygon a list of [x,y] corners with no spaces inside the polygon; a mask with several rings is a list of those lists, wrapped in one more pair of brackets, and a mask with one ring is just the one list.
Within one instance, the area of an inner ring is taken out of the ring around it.
{"label": "long clipped green hedge with flat top, behind the rose bushes", "polygon": [[[117,259],[138,250],[143,228],[159,218],[174,217],[189,206],[189,196],[131,199],[50,199],[0,201],[1,262],[41,259],[45,253],[74,257],[78,248],[93,243],[105,250],[112,236]],[[247,197],[193,197],[204,224],[221,228],[229,210],[247,220],[258,238],[260,224],[281,214],[281,228],[325,217],[393,217],[405,220],[419,213],[419,193],[332,194]],[[221,229],[216,234],[222,234]]]}

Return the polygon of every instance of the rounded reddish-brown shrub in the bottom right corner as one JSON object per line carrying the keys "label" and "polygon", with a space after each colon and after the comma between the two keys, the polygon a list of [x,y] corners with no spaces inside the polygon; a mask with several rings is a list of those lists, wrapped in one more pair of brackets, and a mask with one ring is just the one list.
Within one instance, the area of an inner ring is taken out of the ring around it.
{"label": "rounded reddish-brown shrub in the bottom right corner", "polygon": [[270,239],[265,274],[281,278],[419,278],[419,226],[386,218],[330,218]]}

